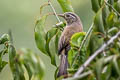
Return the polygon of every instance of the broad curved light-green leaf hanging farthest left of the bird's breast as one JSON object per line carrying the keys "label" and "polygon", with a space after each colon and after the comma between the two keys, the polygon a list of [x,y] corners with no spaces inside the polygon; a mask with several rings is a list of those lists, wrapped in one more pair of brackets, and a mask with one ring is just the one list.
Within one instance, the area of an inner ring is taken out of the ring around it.
{"label": "broad curved light-green leaf hanging farthest left of the bird's breast", "polygon": [[36,22],[35,25],[35,41],[36,41],[36,45],[39,48],[39,50],[41,52],[43,52],[44,54],[46,53],[46,49],[45,49],[45,32],[44,32],[44,27],[45,27],[45,21],[48,15],[42,16],[40,18],[40,20],[38,20]]}

